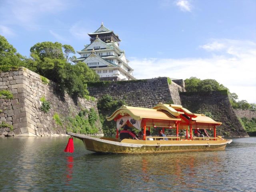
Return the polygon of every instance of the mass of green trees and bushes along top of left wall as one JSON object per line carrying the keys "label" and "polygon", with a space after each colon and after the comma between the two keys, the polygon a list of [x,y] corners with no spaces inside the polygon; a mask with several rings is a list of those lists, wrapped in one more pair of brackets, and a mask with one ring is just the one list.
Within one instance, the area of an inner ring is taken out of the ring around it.
{"label": "mass of green trees and bushes along top of left wall", "polygon": [[0,36],[0,70],[8,71],[23,66],[56,82],[60,92],[66,91],[72,98],[83,98],[89,94],[86,82],[97,81],[99,76],[84,62],[72,65],[69,54],[74,53],[70,45],[41,42],[30,48],[30,58],[26,58],[17,53],[6,38]]}

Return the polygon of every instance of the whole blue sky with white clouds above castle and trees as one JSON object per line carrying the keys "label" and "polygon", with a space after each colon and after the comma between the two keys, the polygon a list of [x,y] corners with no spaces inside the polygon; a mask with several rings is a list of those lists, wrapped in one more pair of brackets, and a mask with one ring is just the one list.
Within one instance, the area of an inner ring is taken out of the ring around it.
{"label": "whole blue sky with white clouds above castle and trees", "polygon": [[44,41],[82,50],[102,22],[135,78],[215,79],[256,103],[256,0],[0,0],[0,34],[27,57]]}

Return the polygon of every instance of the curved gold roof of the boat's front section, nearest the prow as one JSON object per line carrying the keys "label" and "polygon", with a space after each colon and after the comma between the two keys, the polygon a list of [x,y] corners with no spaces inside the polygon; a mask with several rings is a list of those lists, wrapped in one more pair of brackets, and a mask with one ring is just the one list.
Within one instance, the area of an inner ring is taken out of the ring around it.
{"label": "curved gold roof of the boat's front section, nearest the prow", "polygon": [[162,112],[156,109],[140,108],[140,107],[130,107],[123,105],[121,108],[116,110],[110,117],[106,119],[108,121],[118,118],[118,116],[131,116],[135,120],[141,120],[142,118],[148,119],[158,119],[158,120],[171,120],[180,121],[181,119],[175,118],[169,113]]}

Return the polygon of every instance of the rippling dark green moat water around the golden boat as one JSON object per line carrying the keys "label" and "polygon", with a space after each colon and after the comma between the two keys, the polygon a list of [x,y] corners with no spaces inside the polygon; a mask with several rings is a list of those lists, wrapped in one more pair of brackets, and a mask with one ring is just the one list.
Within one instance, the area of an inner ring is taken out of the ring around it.
{"label": "rippling dark green moat water around the golden boat", "polygon": [[0,191],[256,191],[256,137],[224,151],[97,154],[74,138],[0,138]]}

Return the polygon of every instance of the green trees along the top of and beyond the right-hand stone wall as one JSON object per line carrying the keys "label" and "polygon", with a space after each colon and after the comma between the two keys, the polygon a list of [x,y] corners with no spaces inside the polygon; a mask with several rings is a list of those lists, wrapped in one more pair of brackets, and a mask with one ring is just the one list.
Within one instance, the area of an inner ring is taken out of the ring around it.
{"label": "green trees along the top of and beyond the right-hand stone wall", "polygon": [[236,93],[231,93],[228,88],[226,88],[224,85],[220,84],[214,79],[200,80],[196,77],[190,77],[189,79],[185,79],[184,82],[187,92],[227,90],[228,98],[233,108],[256,109],[256,104],[249,104],[246,100],[238,101],[238,95]]}

